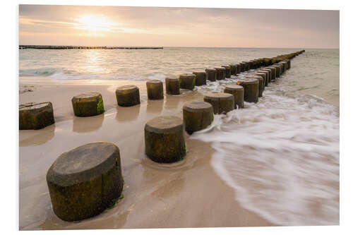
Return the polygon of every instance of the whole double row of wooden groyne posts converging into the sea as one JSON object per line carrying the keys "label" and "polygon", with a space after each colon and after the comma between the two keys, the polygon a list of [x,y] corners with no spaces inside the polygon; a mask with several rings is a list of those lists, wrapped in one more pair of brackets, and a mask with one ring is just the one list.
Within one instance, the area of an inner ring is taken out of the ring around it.
{"label": "whole double row of wooden groyne posts converging into the sea", "polygon": [[[258,102],[265,87],[291,67],[290,59],[303,52],[208,68],[205,72],[182,74],[179,78],[166,78],[167,93],[177,95],[180,88],[193,90],[195,85],[204,84],[206,80],[222,80],[249,69],[260,68],[255,75],[226,85],[224,92],[205,95],[203,102],[186,102],[183,119],[177,116],[150,119],[144,130],[145,154],[158,163],[184,159],[184,129],[191,135],[209,126],[214,114],[243,108],[244,101]],[[146,86],[148,99],[164,98],[162,82],[150,80]],[[139,90],[135,85],[119,87],[116,89],[116,99],[120,106],[140,104]],[[102,95],[97,92],[73,97],[72,104],[76,116],[93,116],[104,112]],[[52,104],[23,104],[20,106],[20,128],[21,122],[27,128],[33,128],[26,126],[30,123],[37,123],[34,125],[36,128],[54,123]],[[99,215],[121,198],[124,179],[119,148],[112,143],[94,142],[64,152],[47,171],[47,185],[52,208],[60,219],[78,221]]]}

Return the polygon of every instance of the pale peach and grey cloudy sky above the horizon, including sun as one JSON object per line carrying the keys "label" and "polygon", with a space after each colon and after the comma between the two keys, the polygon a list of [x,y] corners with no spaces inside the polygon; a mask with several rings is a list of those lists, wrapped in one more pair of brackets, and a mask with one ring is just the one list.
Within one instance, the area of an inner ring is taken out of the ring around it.
{"label": "pale peach and grey cloudy sky above the horizon, including sun", "polygon": [[19,44],[339,48],[340,12],[19,6]]}

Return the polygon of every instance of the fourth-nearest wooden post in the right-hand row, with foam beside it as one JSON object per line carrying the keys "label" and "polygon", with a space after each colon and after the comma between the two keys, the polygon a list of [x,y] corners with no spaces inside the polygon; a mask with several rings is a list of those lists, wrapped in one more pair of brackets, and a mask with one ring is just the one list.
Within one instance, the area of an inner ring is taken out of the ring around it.
{"label": "fourth-nearest wooden post in the right-hand row, with foam beside it", "polygon": [[203,101],[212,104],[214,114],[223,114],[234,109],[234,95],[232,94],[210,93],[203,97]]}

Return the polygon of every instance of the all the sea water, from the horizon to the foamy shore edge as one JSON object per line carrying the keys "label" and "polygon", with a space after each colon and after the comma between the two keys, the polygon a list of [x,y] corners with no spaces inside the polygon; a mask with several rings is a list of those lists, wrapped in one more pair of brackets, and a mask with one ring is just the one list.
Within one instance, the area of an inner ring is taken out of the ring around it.
{"label": "all the sea water, from the horizon to the foamy shore edge", "polygon": [[[300,49],[20,50],[20,76],[164,80],[170,75]],[[191,138],[211,143],[234,200],[275,224],[339,224],[340,52],[306,49],[256,104],[216,115]],[[248,73],[254,73],[249,71]],[[222,91],[246,73],[198,87]]]}

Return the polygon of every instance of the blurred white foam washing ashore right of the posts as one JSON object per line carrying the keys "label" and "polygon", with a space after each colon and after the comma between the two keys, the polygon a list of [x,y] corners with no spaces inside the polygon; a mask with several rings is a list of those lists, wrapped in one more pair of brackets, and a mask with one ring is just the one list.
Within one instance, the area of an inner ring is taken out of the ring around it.
{"label": "blurred white foam washing ashore right of the posts", "polygon": [[281,225],[339,224],[339,116],[309,95],[268,88],[191,138],[248,210]]}

